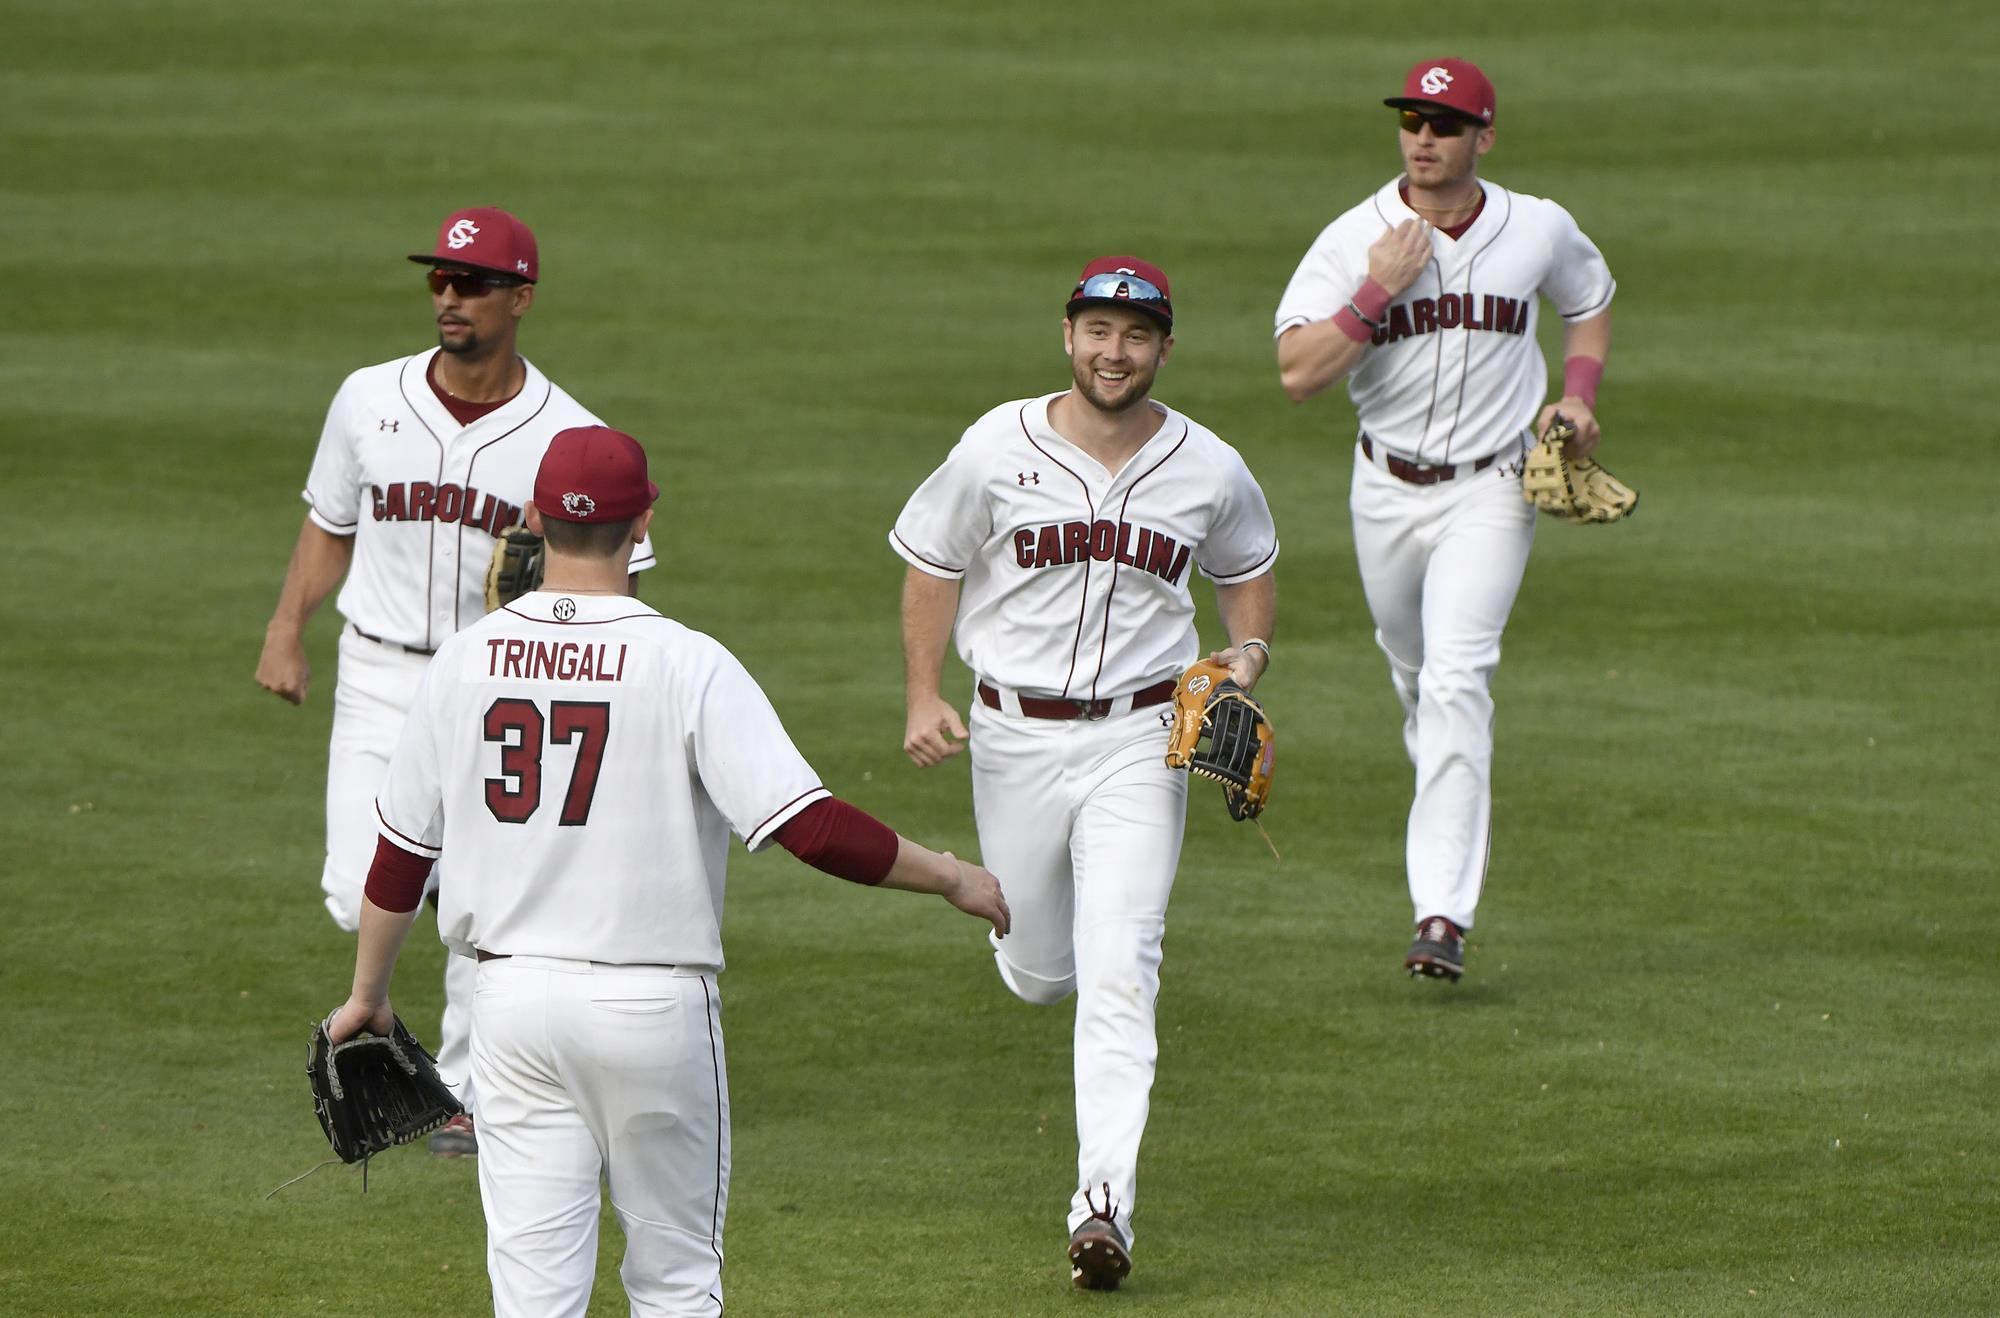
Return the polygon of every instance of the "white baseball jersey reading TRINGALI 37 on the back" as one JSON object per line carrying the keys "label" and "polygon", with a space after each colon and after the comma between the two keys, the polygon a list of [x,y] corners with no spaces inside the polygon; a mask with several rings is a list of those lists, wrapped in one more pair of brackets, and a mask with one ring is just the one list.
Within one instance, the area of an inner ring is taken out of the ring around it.
{"label": "white baseball jersey reading TRINGALI 37 on the back", "polygon": [[720,642],[538,590],[430,660],[376,810],[446,856],[454,948],[720,970],[730,832],[758,850],[824,796]]}

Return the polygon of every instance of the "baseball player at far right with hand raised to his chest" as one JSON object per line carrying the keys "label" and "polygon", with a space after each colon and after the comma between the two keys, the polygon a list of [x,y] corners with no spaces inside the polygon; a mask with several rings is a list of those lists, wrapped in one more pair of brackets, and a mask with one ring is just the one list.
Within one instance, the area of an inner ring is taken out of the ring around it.
{"label": "baseball player at far right with hand raised to his chest", "polygon": [[[1572,456],[1596,448],[1616,282],[1570,212],[1478,176],[1494,88],[1476,66],[1422,60],[1386,104],[1404,172],[1306,252],[1278,302],[1278,370],[1294,402],[1346,378],[1360,414],[1354,552],[1416,766],[1404,966],[1456,980],[1486,880],[1490,686],[1534,544],[1522,458],[1556,412]],[[1564,324],[1546,406],[1540,298]]]}

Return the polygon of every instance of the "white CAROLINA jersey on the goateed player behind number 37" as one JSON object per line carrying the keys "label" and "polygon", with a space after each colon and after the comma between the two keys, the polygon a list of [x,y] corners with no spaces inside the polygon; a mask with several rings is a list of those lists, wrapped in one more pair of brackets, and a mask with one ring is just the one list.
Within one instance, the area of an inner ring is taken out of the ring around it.
{"label": "white CAROLINA jersey on the goateed player behind number 37", "polygon": [[[302,492],[320,530],[354,536],[340,614],[414,650],[436,650],[486,612],[494,536],[520,522],[556,432],[604,424],[524,360],[520,394],[460,426],[426,378],[436,354],[342,382]],[[632,570],[650,566],[648,540]]]}

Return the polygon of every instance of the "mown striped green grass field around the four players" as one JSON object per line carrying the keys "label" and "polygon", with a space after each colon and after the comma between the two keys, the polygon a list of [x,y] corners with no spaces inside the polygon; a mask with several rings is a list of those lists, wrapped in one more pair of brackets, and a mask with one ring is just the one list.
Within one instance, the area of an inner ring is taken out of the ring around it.
{"label": "mown striped green grass field around the four players", "polygon": [[[1542,528],[1456,988],[1400,974],[1352,418],[1270,350],[1394,172],[1376,100],[1446,52],[1500,90],[1486,174],[1620,278],[1604,452],[1646,496]],[[942,904],[758,856],[732,1314],[2000,1312],[1996,74],[1970,0],[0,0],[0,1312],[488,1304],[466,1162],[264,1198],[326,1152],[304,1046],[352,968],[332,610],[304,710],[250,680],[326,402],[430,342],[402,254],[462,204],[536,226],[524,350],[654,454],[646,598],[904,832],[974,848],[964,762],[898,748],[882,536],[964,424],[1064,382],[1084,258],[1172,272],[1158,392],[1284,536],[1284,862],[1200,794],[1132,1282],[1064,1280],[1070,1012]]]}

